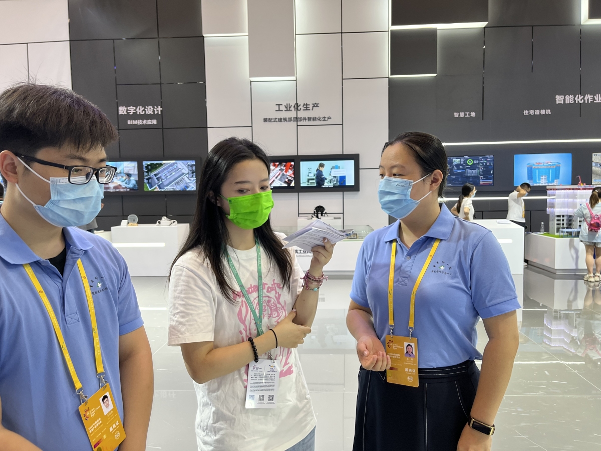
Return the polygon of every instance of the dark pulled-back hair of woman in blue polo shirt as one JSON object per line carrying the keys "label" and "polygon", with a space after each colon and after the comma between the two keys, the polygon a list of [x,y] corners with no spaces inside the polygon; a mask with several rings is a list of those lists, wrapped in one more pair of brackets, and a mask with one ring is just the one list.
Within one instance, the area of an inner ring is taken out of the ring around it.
{"label": "dark pulled-back hair of woman in blue polo shirt", "polygon": [[421,168],[422,176],[432,174],[437,169],[442,172],[442,182],[438,186],[438,197],[442,197],[442,192],[447,186],[448,163],[447,151],[441,140],[430,133],[405,132],[384,144],[382,153],[386,147],[392,146],[392,144],[403,144],[403,146],[409,147]]}

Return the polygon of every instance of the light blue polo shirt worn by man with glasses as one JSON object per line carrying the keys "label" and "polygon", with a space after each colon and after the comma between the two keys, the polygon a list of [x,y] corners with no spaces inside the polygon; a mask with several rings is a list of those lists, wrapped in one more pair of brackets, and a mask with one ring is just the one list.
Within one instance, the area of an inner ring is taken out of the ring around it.
{"label": "light blue polo shirt worn by man with glasses", "polygon": [[123,419],[119,336],[142,326],[127,265],[111,243],[76,227],[64,277],[35,255],[0,214],[0,398],[2,426],[44,451],[88,450],[79,396],[44,305],[23,268],[29,263],[52,304],[84,393],[99,388],[90,313],[76,262],[90,281],[106,380]]}

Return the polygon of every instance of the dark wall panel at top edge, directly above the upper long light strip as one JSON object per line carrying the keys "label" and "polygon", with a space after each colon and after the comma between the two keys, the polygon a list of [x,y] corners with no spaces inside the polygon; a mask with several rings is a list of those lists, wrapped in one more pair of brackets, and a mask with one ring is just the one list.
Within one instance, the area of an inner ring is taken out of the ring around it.
{"label": "dark wall panel at top edge, directly above the upper long light strip", "polygon": [[488,0],[391,0],[391,23],[487,22],[488,3]]}

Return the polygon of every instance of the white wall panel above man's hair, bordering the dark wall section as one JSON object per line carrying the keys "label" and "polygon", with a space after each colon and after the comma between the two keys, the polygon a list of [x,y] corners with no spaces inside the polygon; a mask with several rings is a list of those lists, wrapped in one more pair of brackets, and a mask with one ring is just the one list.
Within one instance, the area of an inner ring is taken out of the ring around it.
{"label": "white wall panel above man's hair, bordering the dark wall section", "polygon": [[71,88],[69,41],[28,44],[29,81]]}

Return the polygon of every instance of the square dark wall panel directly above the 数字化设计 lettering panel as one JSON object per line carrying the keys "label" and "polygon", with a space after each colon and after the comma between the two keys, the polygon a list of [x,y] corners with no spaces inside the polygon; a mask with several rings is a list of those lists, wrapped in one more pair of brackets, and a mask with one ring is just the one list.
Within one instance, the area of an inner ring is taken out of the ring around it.
{"label": "square dark wall panel directly above the \u6570\u5b57\u5316\u8bbe\u8ba1 lettering panel", "polygon": [[160,83],[157,39],[115,40],[117,84]]}

